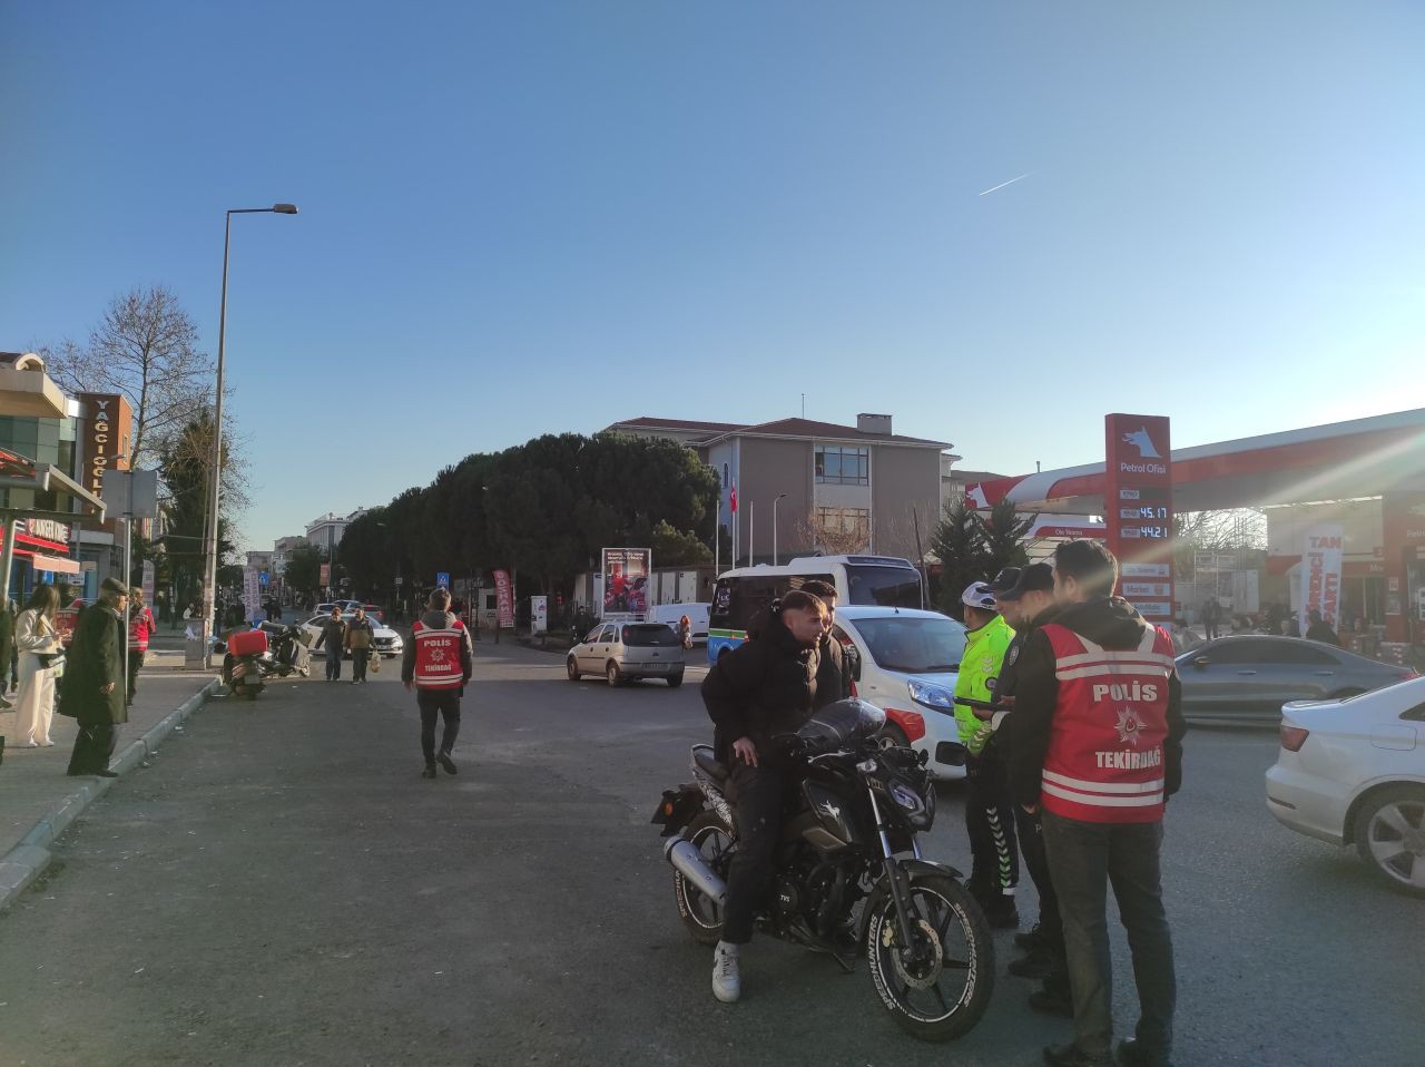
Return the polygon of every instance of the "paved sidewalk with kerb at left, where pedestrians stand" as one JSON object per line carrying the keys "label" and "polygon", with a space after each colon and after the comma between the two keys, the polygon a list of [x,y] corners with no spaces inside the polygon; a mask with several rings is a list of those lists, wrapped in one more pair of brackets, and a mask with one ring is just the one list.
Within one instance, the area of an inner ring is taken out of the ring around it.
{"label": "paved sidewalk with kerb at left, where pedestrians stand", "polygon": [[[144,762],[202,705],[209,683],[215,683],[212,672],[184,669],[182,652],[150,652],[128,722],[118,728],[110,766],[127,775]],[[6,739],[0,765],[0,909],[48,864],[50,842],[117,780],[64,773],[74,733],[74,720],[56,715],[50,729],[54,747],[16,749],[16,715],[0,710],[0,735]]]}

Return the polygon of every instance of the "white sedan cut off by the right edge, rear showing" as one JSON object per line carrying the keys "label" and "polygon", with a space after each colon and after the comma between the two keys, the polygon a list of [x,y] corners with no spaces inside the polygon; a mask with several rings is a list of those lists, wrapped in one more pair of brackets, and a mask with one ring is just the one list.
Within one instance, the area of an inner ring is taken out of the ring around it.
{"label": "white sedan cut off by the right edge, rear showing", "polygon": [[1267,810],[1425,897],[1425,678],[1282,708]]}

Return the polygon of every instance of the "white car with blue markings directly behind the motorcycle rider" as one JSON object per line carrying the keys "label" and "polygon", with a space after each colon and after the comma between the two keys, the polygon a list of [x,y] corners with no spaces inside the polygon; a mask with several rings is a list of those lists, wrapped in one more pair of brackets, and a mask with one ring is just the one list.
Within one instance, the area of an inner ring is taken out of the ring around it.
{"label": "white car with blue markings directly behind the motorcycle rider", "polygon": [[882,736],[929,753],[936,777],[965,777],[952,702],[965,626],[939,612],[851,605],[836,608],[832,636],[846,649],[856,696],[886,713]]}

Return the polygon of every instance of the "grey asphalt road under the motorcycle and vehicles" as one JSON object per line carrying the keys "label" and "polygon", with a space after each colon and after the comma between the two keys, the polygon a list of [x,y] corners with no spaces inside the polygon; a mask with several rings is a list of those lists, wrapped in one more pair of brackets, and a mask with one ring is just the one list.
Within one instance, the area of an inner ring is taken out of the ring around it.
{"label": "grey asphalt road under the motorcycle and vehicles", "polygon": [[[902,1036],[864,966],[765,939],[742,1003],[717,1004],[648,824],[708,735],[701,672],[610,690],[510,645],[477,663],[460,773],[436,782],[392,663],[202,710],[0,916],[0,1064],[1007,1067],[1066,1038],[1003,973],[1007,936],[989,1013],[950,1047]],[[1188,737],[1164,854],[1176,1063],[1414,1067],[1421,904],[1277,826],[1274,752]],[[926,853],[968,869],[958,787],[940,799]],[[1127,1030],[1119,934],[1116,953]]]}

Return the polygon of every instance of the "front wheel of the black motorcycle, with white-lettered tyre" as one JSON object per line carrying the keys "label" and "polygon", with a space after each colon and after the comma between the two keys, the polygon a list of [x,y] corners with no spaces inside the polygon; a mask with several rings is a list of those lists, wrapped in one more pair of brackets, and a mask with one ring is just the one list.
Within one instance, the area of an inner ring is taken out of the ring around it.
{"label": "front wheel of the black motorcycle, with white-lettered tyre", "polygon": [[889,894],[871,916],[871,977],[902,1030],[921,1041],[952,1041],[975,1028],[995,990],[989,923],[969,890],[943,874],[913,877],[909,907],[909,946]]}

